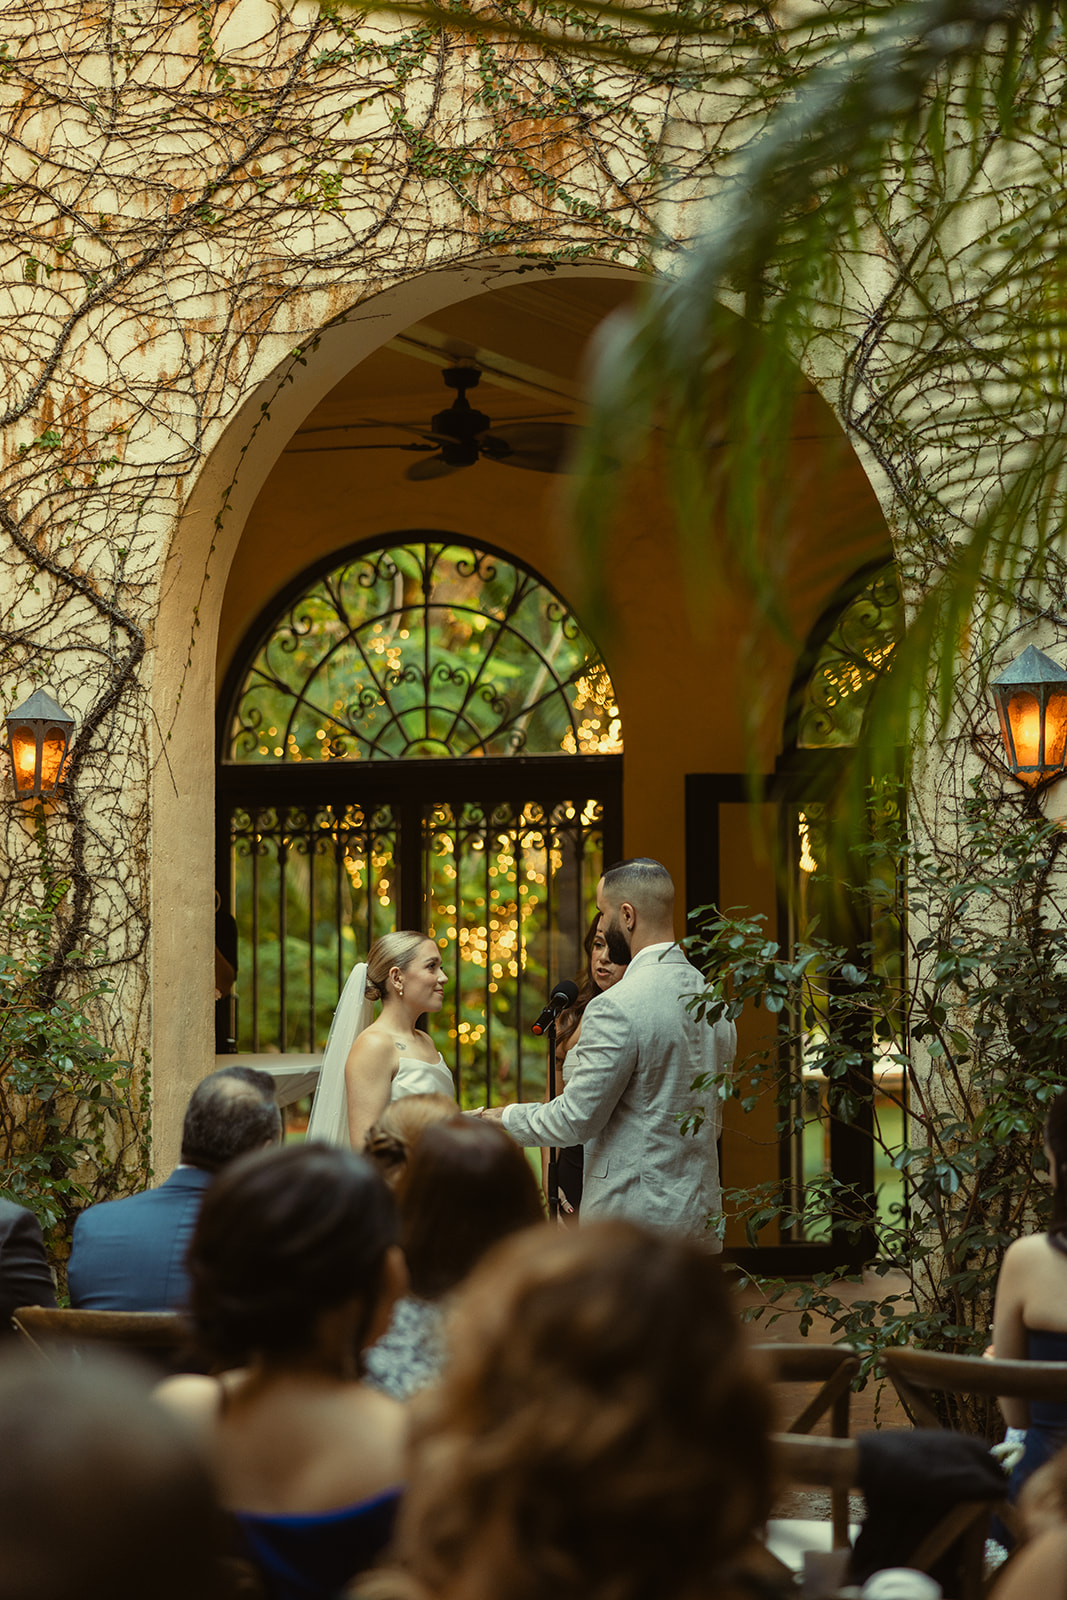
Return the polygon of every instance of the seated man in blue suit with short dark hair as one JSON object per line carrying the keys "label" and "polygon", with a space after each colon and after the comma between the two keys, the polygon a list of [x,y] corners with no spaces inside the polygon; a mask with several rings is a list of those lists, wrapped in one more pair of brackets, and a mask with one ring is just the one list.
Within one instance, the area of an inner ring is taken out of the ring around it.
{"label": "seated man in blue suit with short dark hair", "polygon": [[90,1206],[74,1224],[70,1304],[78,1310],[182,1310],[186,1251],[208,1184],[235,1157],[280,1138],[269,1072],[222,1067],[203,1078],[186,1110],[181,1165],[166,1182]]}

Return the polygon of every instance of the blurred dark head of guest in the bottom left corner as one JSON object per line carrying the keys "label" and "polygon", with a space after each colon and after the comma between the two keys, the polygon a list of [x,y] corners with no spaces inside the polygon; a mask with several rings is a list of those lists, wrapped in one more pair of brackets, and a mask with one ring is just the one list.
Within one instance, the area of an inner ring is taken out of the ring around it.
{"label": "blurred dark head of guest in the bottom left corner", "polygon": [[222,1600],[187,1430],[99,1355],[0,1358],[0,1600]]}

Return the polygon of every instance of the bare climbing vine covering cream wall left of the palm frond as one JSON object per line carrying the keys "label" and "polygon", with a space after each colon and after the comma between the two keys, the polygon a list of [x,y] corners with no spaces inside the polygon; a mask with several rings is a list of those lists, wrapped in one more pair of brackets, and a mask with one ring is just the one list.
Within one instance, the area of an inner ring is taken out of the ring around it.
{"label": "bare climbing vine covering cream wall left of the palm frond", "polygon": [[[544,16],[571,42],[624,37]],[[35,997],[45,1014],[85,997],[117,1062],[142,1061],[150,1021],[147,794],[176,715],[150,702],[163,566],[227,419],[269,379],[270,427],[270,386],[315,358],[322,328],[419,272],[648,266],[667,238],[664,182],[702,160],[664,139],[689,91],[669,43],[637,72],[611,50],[582,61],[464,18],[368,24],[306,0],[5,6],[0,701],[46,683],[77,726],[42,814],[48,874],[22,806],[3,803],[0,920],[14,952],[18,918],[46,914]],[[211,576],[208,558],[202,592]],[[187,666],[197,627],[194,611]],[[134,1142],[144,1082],[130,1069]],[[30,1142],[46,1138],[30,1123]],[[86,1154],[78,1181],[114,1192],[123,1165]]]}

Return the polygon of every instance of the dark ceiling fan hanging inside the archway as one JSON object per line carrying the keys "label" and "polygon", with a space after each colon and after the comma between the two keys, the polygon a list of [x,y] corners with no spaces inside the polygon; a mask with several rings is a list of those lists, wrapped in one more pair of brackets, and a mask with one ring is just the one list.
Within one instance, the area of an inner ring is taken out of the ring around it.
{"label": "dark ceiling fan hanging inside the archway", "polygon": [[[429,427],[411,427],[408,432],[426,440],[422,445],[394,445],[394,450],[424,450],[426,461],[414,461],[405,472],[416,483],[422,478],[443,478],[475,461],[499,461],[504,467],[525,467],[526,472],[568,472],[568,454],[584,429],[574,422],[517,422],[510,427],[493,427],[485,411],[475,411],[467,400],[467,390],[477,389],[482,373],[477,366],[446,366],[442,378],[456,398],[438,411]],[[394,424],[395,426],[395,424]]]}

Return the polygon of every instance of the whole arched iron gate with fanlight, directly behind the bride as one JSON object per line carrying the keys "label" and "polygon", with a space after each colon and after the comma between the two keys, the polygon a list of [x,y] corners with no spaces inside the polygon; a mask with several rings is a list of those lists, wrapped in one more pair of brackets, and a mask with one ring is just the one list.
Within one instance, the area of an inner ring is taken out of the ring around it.
{"label": "whole arched iron gate with fanlight, directly behind the bride", "polygon": [[238,939],[226,1045],[320,1050],[352,963],[424,926],[451,979],[437,1032],[459,1091],[537,1093],[525,1035],[581,962],[622,838],[614,690],[565,600],[437,530],[334,554],[248,632],[218,757]]}

